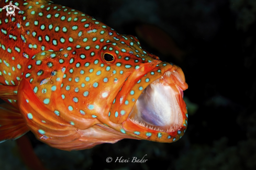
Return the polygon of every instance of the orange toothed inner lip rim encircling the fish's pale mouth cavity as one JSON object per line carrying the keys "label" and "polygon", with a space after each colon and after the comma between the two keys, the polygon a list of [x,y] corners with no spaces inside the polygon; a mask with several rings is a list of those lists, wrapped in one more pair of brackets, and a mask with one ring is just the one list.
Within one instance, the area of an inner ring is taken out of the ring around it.
{"label": "orange toothed inner lip rim encircling the fish's pale mouth cavity", "polygon": [[[173,66],[173,65],[172,65],[172,66]],[[149,72],[150,72],[150,71],[149,71]],[[148,73],[149,73],[149,72],[148,72]],[[148,73],[147,73],[147,74],[148,74]],[[161,77],[155,78],[155,80],[153,80],[150,84],[148,84],[147,87],[149,87],[151,84],[159,83],[160,80],[164,80],[164,79],[166,79],[166,78],[169,78],[172,73],[173,73],[173,76],[175,76],[175,78],[176,78],[176,80],[174,81],[175,86],[176,86],[176,92],[179,93],[179,96],[182,96],[182,100],[183,100],[183,90],[187,89],[188,86],[187,86],[187,84],[185,83],[184,73],[181,71],[180,67],[177,67],[177,66],[176,66],[175,69],[173,69],[173,67],[169,67],[168,70],[166,70],[165,72],[163,72],[163,74],[162,74]],[[170,75],[168,75],[168,74],[170,74]],[[180,76],[180,74],[181,74],[181,76]],[[168,76],[168,77],[165,77],[165,76]],[[170,78],[171,78],[171,77],[170,77]],[[180,86],[177,85],[177,84],[180,84]],[[147,88],[147,87],[146,87],[146,88]],[[146,89],[146,88],[145,88],[145,89]],[[175,90],[175,89],[174,89],[174,90]],[[142,94],[142,93],[141,93],[141,94]],[[141,94],[140,94],[140,96],[141,96]],[[140,97],[140,96],[139,96],[139,97]],[[133,108],[136,107],[136,103],[137,103],[139,97],[136,99],[135,105],[133,105],[132,110],[133,110]],[[182,122],[183,122],[183,119],[184,119],[184,116],[183,116],[183,115],[184,115],[184,111],[183,111],[184,109],[182,109],[181,101],[179,100],[180,97],[177,98],[176,95],[175,95],[175,98],[176,98],[177,104],[179,104],[179,108],[180,108],[180,111],[177,112],[177,113],[175,113],[175,114],[179,114],[179,116],[180,116],[181,118],[180,118],[180,120],[179,120],[179,124],[177,124],[174,128],[168,129],[168,128],[166,128],[166,126],[165,126],[165,128],[161,128],[161,126],[150,126],[149,124],[147,124],[146,121],[143,122],[143,121],[138,121],[138,120],[136,120],[136,119],[133,119],[133,118],[130,117],[130,114],[131,114],[132,110],[130,111],[129,116],[127,117],[127,120],[131,121],[132,123],[137,124],[137,125],[140,126],[140,127],[148,128],[148,129],[150,129],[150,130],[152,130],[152,131],[156,131],[156,132],[157,132],[157,131],[158,131],[158,132],[160,131],[160,132],[167,132],[167,133],[174,132],[175,130],[178,130],[178,129],[181,128]],[[183,102],[184,102],[184,100],[183,100]],[[126,121],[127,121],[127,120],[126,120]],[[145,123],[146,123],[146,124],[145,124]],[[172,124],[170,124],[169,127],[171,127],[171,126],[172,126]]]}

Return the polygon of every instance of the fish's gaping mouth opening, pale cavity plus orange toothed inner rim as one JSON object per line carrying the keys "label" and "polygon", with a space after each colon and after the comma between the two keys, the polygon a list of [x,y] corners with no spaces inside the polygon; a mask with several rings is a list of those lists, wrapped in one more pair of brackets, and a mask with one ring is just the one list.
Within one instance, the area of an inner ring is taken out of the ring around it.
{"label": "fish's gaping mouth opening, pale cavity plus orange toothed inner rim", "polygon": [[128,118],[151,130],[173,132],[179,129],[183,122],[181,102],[184,102],[179,84],[183,84],[179,73],[166,71],[143,90]]}

